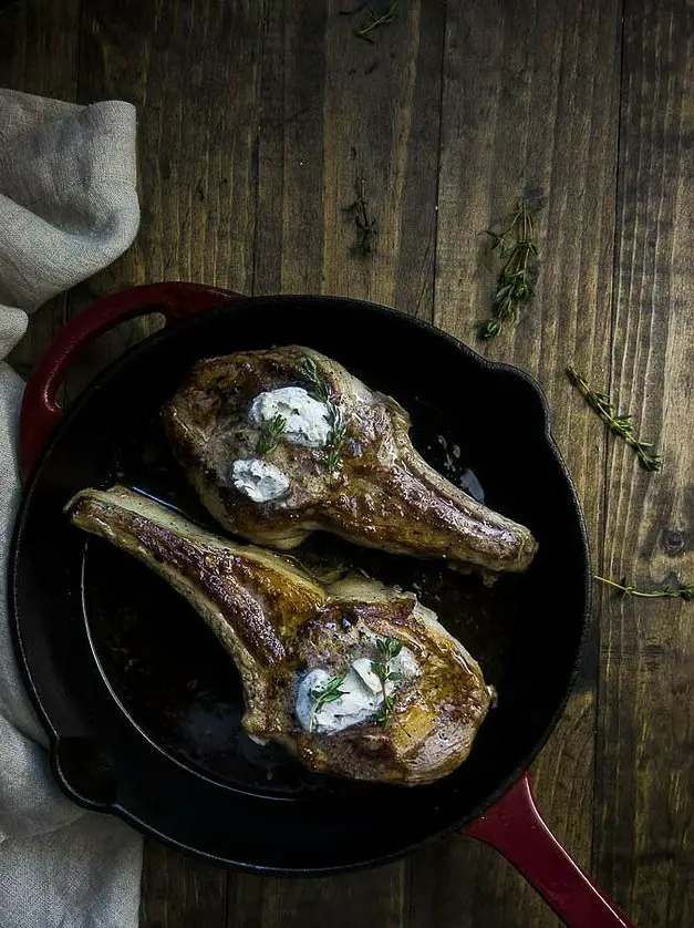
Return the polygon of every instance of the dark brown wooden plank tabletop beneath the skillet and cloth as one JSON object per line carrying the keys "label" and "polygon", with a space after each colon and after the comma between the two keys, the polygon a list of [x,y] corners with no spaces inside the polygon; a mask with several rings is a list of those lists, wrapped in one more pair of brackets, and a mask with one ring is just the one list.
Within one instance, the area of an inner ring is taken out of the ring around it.
{"label": "dark brown wooden plank tabletop beneath the skillet and cloth", "polygon": [[[27,373],[68,317],[143,281],[396,306],[539,379],[595,569],[645,587],[693,580],[694,6],[411,0],[375,44],[344,6],[15,0],[0,12],[0,85],[138,111],[139,235],[39,312],[15,365]],[[379,229],[366,259],[343,212],[358,177]],[[525,192],[546,198],[537,297],[480,343],[496,267],[480,233]],[[149,330],[102,339],[68,396]],[[605,434],[570,362],[633,413],[662,473]],[[534,769],[551,827],[644,928],[694,925],[693,653],[694,604],[599,587],[578,684]],[[556,924],[463,837],[321,879],[238,875],[146,844],[146,928]]]}

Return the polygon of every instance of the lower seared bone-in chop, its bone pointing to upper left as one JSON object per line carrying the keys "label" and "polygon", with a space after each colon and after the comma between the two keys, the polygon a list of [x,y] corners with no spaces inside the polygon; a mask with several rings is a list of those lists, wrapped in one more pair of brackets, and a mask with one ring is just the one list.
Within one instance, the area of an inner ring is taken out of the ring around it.
{"label": "lower seared bone-in chop, its bone pointing to upper left", "polygon": [[244,728],[305,766],[415,785],[468,755],[491,698],[477,662],[414,595],[321,585],[123,487],[84,489],[74,525],[159,574],[210,626],[244,683]]}

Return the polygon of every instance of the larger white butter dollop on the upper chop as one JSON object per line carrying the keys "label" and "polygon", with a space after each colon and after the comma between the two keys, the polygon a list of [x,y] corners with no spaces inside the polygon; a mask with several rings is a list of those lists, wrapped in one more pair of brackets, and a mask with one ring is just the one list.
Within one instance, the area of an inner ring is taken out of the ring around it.
{"label": "larger white butter dollop on the upper chop", "polygon": [[330,434],[330,411],[302,386],[281,386],[259,393],[250,406],[250,417],[259,427],[281,415],[287,422],[282,437],[304,447],[324,447]]}

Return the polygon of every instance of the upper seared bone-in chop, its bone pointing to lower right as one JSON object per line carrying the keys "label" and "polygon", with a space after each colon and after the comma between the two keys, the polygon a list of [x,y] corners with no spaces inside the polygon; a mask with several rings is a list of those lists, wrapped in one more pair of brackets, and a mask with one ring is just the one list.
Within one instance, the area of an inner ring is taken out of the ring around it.
{"label": "upper seared bone-in chop, its bone pointing to lower right", "polygon": [[485,573],[535,555],[525,526],[429,467],[395,400],[308,348],[199,361],[164,420],[205,506],[256,544],[290,550],[325,529]]}

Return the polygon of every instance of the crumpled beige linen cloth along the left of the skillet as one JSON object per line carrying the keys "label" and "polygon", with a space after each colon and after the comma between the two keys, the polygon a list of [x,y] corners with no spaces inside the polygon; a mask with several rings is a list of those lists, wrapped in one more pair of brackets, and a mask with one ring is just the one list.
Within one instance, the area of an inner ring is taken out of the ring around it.
{"label": "crumpled beige linen cloth along the left of the skillet", "polygon": [[8,628],[22,382],[2,362],[28,312],[132,243],[135,111],[0,89],[0,928],[135,928],[142,839],[55,785]]}

